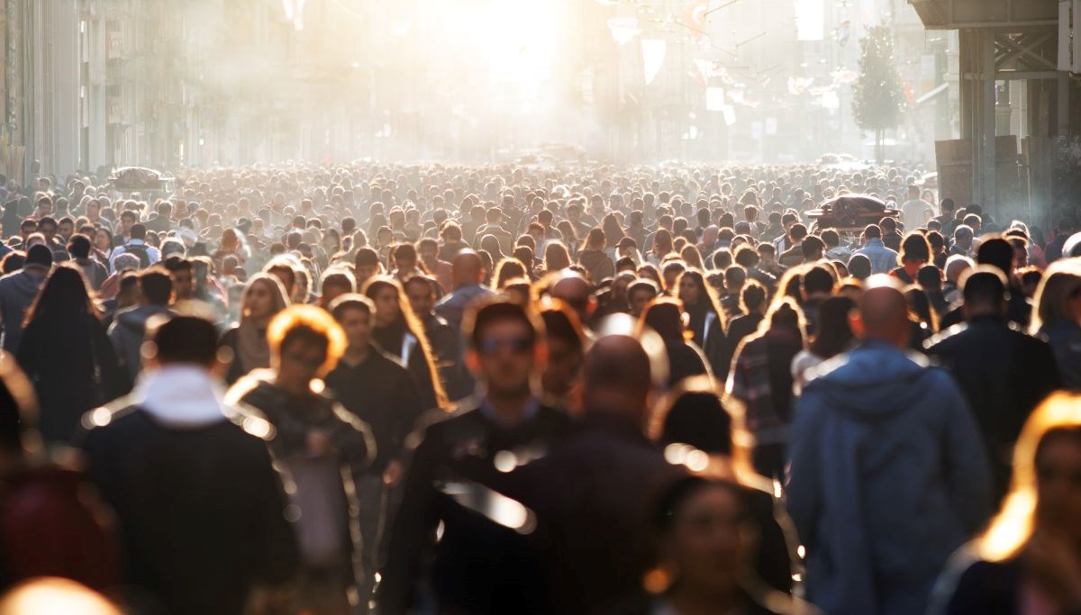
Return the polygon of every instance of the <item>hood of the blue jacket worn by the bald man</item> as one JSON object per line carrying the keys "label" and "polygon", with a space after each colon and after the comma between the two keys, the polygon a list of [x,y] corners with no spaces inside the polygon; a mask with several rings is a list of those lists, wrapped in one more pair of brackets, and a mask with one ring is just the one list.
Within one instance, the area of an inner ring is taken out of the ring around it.
{"label": "hood of the blue jacket worn by the bald man", "polygon": [[852,419],[876,423],[926,396],[918,382],[927,373],[929,364],[922,355],[885,342],[867,340],[815,367],[804,390],[814,390]]}

